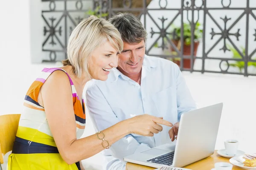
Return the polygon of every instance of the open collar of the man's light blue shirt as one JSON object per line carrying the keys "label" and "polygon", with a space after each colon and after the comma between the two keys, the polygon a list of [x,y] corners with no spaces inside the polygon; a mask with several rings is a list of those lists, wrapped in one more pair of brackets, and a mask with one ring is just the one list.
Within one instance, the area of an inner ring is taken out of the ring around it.
{"label": "open collar of the man's light blue shirt", "polygon": [[[156,63],[151,59],[151,57],[145,55],[142,67],[147,71],[151,71],[151,68],[157,67]],[[117,68],[112,68],[114,79],[112,82],[116,82],[118,77],[122,77],[123,79],[130,79],[129,77],[122,74]]]}

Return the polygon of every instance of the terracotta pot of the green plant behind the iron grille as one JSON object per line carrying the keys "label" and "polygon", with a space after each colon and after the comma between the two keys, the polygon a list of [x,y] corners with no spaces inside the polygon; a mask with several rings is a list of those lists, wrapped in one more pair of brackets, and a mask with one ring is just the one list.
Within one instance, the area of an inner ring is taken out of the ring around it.
{"label": "terracotta pot of the green plant behind the iron grille", "polygon": [[[179,40],[172,40],[172,42],[175,44],[175,46],[180,50]],[[197,49],[198,49],[199,41],[194,42],[194,56],[196,57]],[[172,45],[170,45],[171,52],[175,51],[174,48],[172,48]],[[191,55],[191,45],[186,45],[185,42],[183,44],[183,55]],[[183,59],[183,68],[191,68],[190,67],[190,61],[191,59]],[[179,60],[174,60],[177,65],[180,66]],[[195,59],[193,59],[193,62],[195,62]]]}

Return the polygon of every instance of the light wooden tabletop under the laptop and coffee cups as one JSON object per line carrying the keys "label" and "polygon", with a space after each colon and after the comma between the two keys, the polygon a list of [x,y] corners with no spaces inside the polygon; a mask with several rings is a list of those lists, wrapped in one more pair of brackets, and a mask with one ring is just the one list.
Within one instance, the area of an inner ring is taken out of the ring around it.
{"label": "light wooden tabletop under the laptop and coffee cups", "polygon": [[[209,156],[205,159],[202,159],[200,161],[197,161],[195,163],[189,164],[185,166],[185,168],[191,169],[191,170],[211,170],[214,168],[214,164],[217,162],[229,162],[230,158],[224,158],[220,155],[218,155],[217,150],[215,150],[214,154],[212,156]],[[154,170],[156,168],[154,167],[146,167],[143,165],[133,164],[128,162],[126,164],[126,170]],[[241,167],[238,167],[236,165],[233,165],[232,170],[244,170]]]}

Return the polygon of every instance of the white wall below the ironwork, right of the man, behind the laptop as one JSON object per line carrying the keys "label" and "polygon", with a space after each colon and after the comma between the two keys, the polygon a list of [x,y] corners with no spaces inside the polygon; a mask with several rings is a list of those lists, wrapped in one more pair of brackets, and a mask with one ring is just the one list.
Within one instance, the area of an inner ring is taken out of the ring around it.
{"label": "white wall below the ironwork, right of the man, behind the laptop", "polygon": [[[223,102],[223,111],[215,149],[224,148],[224,140],[237,139],[239,149],[256,152],[256,77],[183,72],[192,96],[200,107]],[[196,132],[195,132],[196,135]]]}

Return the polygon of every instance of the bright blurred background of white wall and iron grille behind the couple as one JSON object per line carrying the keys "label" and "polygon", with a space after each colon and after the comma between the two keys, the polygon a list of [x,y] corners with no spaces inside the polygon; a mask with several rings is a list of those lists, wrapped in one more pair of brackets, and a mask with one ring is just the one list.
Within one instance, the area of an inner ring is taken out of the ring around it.
{"label": "bright blurred background of white wall and iron grille behind the couple", "polygon": [[[21,113],[42,68],[61,66],[81,19],[118,12],[140,18],[146,54],[177,63],[199,107],[224,103],[215,149],[237,139],[240,150],[256,153],[255,0],[1,0],[0,115]],[[93,133],[87,115],[83,136]],[[101,160],[83,164],[101,170]]]}

